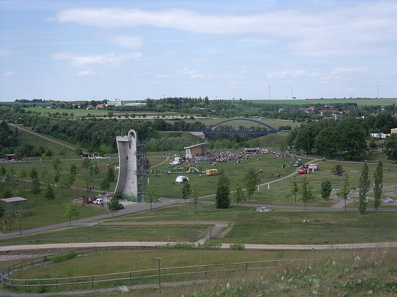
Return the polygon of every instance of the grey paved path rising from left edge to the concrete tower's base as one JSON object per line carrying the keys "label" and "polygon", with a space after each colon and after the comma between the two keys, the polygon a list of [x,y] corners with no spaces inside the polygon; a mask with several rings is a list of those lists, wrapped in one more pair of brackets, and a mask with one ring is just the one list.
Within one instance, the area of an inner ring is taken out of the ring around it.
{"label": "grey paved path rising from left edge to the concrete tower's base", "polygon": [[[157,203],[157,204],[153,203],[152,208],[160,208],[160,207],[170,206],[170,205],[183,203],[183,202],[184,202],[184,200],[182,200],[182,199],[162,198],[161,203]],[[150,209],[150,203],[134,203],[131,205],[126,205],[124,207],[124,209],[121,209],[118,212],[115,212],[114,216],[118,217],[118,216],[122,216],[122,215],[126,215],[126,214],[149,210],[149,209]],[[97,220],[110,219],[110,218],[112,218],[112,213],[106,213],[106,214],[96,215],[96,216],[82,218],[82,219],[79,219],[76,221],[72,221],[71,225],[78,226],[80,224],[85,224],[85,223],[89,223],[89,222],[93,222],[93,221],[97,221]],[[32,233],[42,232],[42,231],[47,231],[47,230],[53,230],[53,229],[57,229],[57,228],[63,228],[63,227],[67,227],[67,226],[69,226],[69,222],[64,222],[64,223],[50,225],[50,226],[43,226],[43,227],[29,229],[29,230],[22,230],[22,235],[32,234]],[[14,237],[14,236],[19,236],[19,231],[11,232],[8,234],[0,234],[0,239]]]}

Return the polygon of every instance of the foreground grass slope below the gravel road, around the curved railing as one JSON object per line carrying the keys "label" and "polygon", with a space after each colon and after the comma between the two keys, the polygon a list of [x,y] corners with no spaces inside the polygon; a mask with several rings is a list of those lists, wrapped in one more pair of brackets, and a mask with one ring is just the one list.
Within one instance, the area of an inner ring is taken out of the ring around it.
{"label": "foreground grass slope below the gravel road, around the curved railing", "polygon": [[[155,250],[119,251],[88,254],[66,260],[62,265],[49,263],[16,272],[12,278],[60,278],[95,275],[143,269],[156,269],[155,257],[162,258],[161,267],[235,263],[278,259],[310,259],[304,262],[281,262],[274,269],[250,270],[248,272],[218,272],[184,276],[167,276],[162,281],[161,296],[394,296],[397,293],[397,253],[395,248],[322,250],[322,251],[231,251],[231,250]],[[106,265],[104,265],[106,263]],[[219,270],[229,267],[218,267]],[[193,271],[193,269],[192,269]],[[179,272],[178,269],[172,272]],[[144,272],[141,273],[144,275]],[[128,277],[125,276],[125,277]],[[97,277],[96,279],[100,279]],[[83,280],[83,278],[81,278]],[[177,281],[199,281],[174,284]],[[158,296],[156,278],[145,281],[133,280],[132,285],[151,283],[154,287],[122,293],[123,296]],[[94,289],[129,286],[129,280],[111,283],[96,283]],[[59,290],[90,289],[91,284],[59,287]],[[37,292],[42,287],[32,291]],[[30,291],[30,292],[32,292]],[[56,292],[49,287],[47,292]],[[103,292],[90,292],[100,296]],[[120,296],[120,291],[106,292],[107,296]],[[83,293],[77,296],[85,296]]]}

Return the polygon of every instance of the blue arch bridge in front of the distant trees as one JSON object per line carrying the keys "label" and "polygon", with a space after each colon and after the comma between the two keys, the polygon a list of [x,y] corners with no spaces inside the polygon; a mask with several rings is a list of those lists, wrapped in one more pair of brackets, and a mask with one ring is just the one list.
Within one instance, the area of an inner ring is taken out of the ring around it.
{"label": "blue arch bridge in front of the distant trees", "polygon": [[206,128],[206,134],[275,134],[279,131],[265,123],[252,119],[231,119]]}

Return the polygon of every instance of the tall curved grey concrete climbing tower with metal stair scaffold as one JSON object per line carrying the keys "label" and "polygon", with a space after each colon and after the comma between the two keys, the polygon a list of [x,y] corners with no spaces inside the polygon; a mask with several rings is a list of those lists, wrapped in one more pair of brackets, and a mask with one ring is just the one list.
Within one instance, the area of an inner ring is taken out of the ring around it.
{"label": "tall curved grey concrete climbing tower with metal stair scaffold", "polygon": [[126,136],[118,136],[116,140],[120,170],[115,194],[131,195],[142,202],[146,186],[145,143],[137,140],[134,130],[130,130]]}

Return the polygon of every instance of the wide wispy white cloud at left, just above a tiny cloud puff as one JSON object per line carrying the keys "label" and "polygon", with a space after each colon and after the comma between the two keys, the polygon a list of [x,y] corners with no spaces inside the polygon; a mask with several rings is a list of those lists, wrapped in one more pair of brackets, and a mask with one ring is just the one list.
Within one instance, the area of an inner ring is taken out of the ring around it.
{"label": "wide wispy white cloud at left, just above a tiny cloud puff", "polygon": [[130,59],[140,58],[140,53],[128,53],[117,55],[114,52],[104,55],[80,55],[67,52],[53,54],[56,60],[68,60],[74,67],[96,67],[96,66],[116,66]]}

